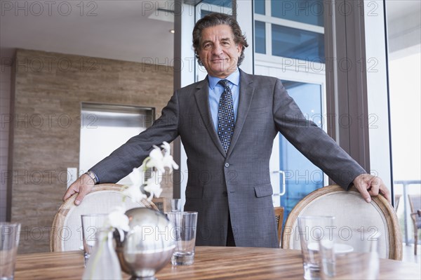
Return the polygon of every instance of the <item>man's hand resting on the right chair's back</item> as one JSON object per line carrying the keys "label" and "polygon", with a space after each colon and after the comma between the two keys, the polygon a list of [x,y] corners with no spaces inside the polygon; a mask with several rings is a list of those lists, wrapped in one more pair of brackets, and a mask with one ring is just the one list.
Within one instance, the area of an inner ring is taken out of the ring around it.
{"label": "man's hand resting on the right chair's back", "polygon": [[389,201],[389,204],[392,204],[389,189],[387,189],[381,178],[364,173],[356,176],[352,182],[367,202],[371,201],[371,196],[382,194]]}

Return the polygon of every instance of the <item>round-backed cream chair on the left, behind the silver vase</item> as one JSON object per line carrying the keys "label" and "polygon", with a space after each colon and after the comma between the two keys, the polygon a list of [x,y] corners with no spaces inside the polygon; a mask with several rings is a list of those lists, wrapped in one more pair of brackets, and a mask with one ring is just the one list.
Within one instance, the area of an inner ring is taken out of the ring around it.
{"label": "round-backed cream chair on the left, behind the silver vase", "polygon": [[147,207],[158,210],[147,200],[133,202],[129,197],[123,200],[122,185],[100,184],[86,194],[79,206],[74,205],[76,194],[67,199],[58,209],[51,229],[50,250],[52,252],[79,250],[82,246],[81,215],[110,213],[114,206],[126,209]]}

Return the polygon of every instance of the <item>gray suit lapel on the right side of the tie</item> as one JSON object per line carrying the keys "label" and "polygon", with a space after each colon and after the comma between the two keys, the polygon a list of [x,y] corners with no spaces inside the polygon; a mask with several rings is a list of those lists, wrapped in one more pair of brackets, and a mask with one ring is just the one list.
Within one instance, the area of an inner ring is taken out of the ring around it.
{"label": "gray suit lapel on the right side of the tie", "polygon": [[[246,121],[248,109],[250,109],[251,100],[253,100],[254,87],[252,86],[253,80],[249,74],[246,74],[241,69],[240,71],[240,98],[239,98],[239,109],[237,112],[236,122],[234,126],[234,134],[231,138],[231,144],[229,145],[228,154],[229,156],[234,148],[236,141],[239,139],[241,129]],[[218,138],[218,135],[217,135]],[[219,139],[218,139],[219,140]],[[222,145],[220,145],[222,147]]]}

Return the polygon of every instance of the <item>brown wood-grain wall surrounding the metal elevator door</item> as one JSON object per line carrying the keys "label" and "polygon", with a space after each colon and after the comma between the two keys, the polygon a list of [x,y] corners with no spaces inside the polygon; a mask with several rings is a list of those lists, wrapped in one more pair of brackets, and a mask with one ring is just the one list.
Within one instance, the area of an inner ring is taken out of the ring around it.
{"label": "brown wood-grain wall surrounding the metal elevator door", "polygon": [[157,118],[173,95],[173,68],[21,49],[15,65],[11,220],[22,224],[20,253],[46,252],[67,168],[79,167],[81,102],[155,107]]}

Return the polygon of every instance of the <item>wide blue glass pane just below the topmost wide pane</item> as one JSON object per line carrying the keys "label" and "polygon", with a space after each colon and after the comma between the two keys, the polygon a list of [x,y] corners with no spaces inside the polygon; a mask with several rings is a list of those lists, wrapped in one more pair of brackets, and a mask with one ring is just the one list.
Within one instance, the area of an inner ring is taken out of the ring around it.
{"label": "wide blue glass pane just below the topmost wide pane", "polygon": [[272,25],[272,55],[324,63],[324,35]]}

